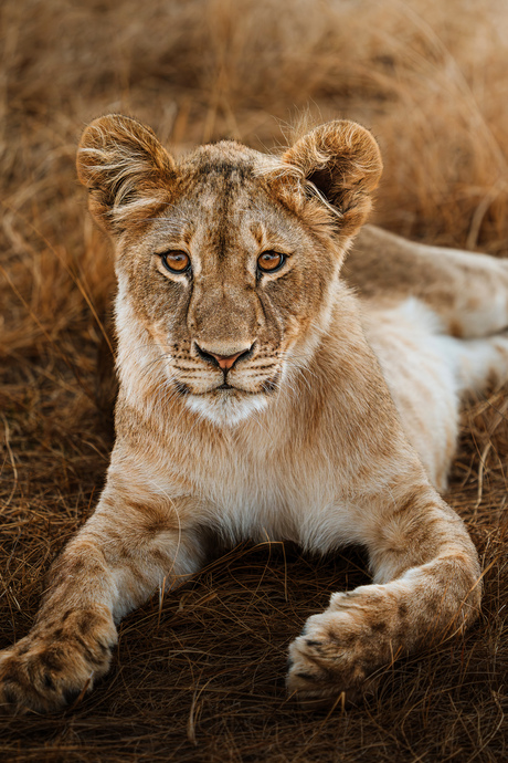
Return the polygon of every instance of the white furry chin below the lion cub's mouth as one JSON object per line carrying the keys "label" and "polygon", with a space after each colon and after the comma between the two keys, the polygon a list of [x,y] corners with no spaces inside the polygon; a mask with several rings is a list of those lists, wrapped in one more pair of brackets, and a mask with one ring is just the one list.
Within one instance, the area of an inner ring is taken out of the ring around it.
{"label": "white furry chin below the lion cub's mouth", "polygon": [[186,403],[201,418],[222,427],[234,427],[253,414],[264,410],[268,404],[268,396],[263,393],[224,389],[211,395],[187,395]]}

